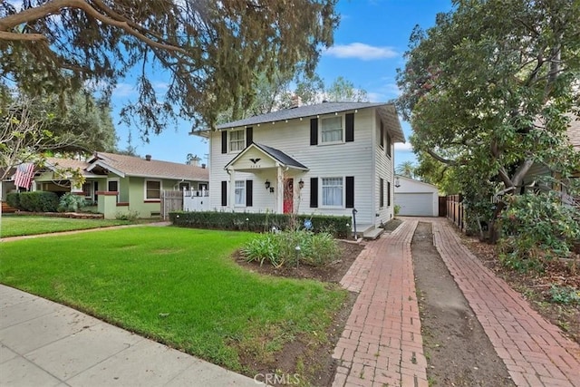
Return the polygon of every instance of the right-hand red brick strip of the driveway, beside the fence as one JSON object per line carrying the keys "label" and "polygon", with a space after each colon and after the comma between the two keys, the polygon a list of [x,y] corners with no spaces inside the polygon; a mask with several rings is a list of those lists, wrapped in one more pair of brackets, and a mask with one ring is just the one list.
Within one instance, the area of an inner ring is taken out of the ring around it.
{"label": "right-hand red brick strip of the driveway, beside the fence", "polygon": [[449,222],[430,221],[440,256],[512,380],[518,386],[580,386],[580,345],[483,266]]}

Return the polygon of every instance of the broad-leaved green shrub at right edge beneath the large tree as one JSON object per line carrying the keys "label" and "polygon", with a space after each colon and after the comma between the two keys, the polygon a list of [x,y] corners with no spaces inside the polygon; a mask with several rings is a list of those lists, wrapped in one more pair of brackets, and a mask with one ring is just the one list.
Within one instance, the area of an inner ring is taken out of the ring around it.
{"label": "broad-leaved green shrub at right edge beneath the large tree", "polygon": [[577,208],[562,205],[556,192],[504,198],[499,218],[499,259],[522,271],[541,271],[546,261],[569,256],[580,239]]}

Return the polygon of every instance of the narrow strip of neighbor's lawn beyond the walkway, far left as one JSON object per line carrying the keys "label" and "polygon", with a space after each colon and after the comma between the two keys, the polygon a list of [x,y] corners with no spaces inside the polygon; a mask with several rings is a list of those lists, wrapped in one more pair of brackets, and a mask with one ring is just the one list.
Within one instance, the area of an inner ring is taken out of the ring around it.
{"label": "narrow strip of neighbor's lawn beyond the walkway, far left", "polygon": [[116,219],[73,219],[3,215],[0,219],[0,237],[19,237],[23,235],[46,234],[60,231],[82,230],[128,225],[128,220]]}

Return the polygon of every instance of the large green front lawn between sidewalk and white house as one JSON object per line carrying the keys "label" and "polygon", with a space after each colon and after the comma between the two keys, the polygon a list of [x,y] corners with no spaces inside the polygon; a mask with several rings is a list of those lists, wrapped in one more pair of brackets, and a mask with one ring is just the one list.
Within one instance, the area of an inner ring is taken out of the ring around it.
{"label": "large green front lawn between sidewalk and white house", "polygon": [[[338,286],[260,276],[231,254],[250,233],[131,227],[2,244],[0,282],[96,315],[229,369],[324,332]],[[332,287],[332,288],[331,288]]]}

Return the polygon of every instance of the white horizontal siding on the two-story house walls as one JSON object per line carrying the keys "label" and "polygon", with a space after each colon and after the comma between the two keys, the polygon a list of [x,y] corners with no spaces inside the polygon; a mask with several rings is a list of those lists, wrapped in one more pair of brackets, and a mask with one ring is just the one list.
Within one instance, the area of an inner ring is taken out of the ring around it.
{"label": "white horizontal siding on the two-story house walls", "polygon": [[[354,112],[354,111],[349,111]],[[344,113],[340,115],[344,116]],[[278,150],[301,162],[308,171],[290,169],[286,174],[295,179],[295,195],[300,196],[298,212],[303,214],[319,215],[346,215],[352,216],[353,208],[323,208],[321,178],[354,176],[354,208],[357,209],[357,223],[378,224],[381,220],[391,218],[391,208],[386,208],[387,197],[385,194],[385,208],[381,211],[381,217],[375,217],[378,211],[379,181],[375,172],[375,165],[380,165],[382,175],[386,182],[392,180],[392,163],[384,155],[377,153],[375,145],[375,133],[379,122],[374,109],[364,109],[354,112],[354,141],[339,144],[321,143],[320,135],[318,145],[310,145],[310,119],[288,122],[266,123],[253,126],[253,140],[258,144],[264,144]],[[320,123],[319,123],[320,132]],[[209,186],[211,189],[210,207],[212,209],[224,209],[221,207],[220,187],[221,181],[229,181],[229,176],[224,166],[237,156],[237,152],[221,153],[221,132],[211,133],[209,140],[210,149],[210,173]],[[391,153],[392,154],[392,153]],[[319,179],[318,208],[310,208],[310,179]],[[276,192],[270,193],[265,188],[268,179],[275,189],[278,189],[275,169],[256,170],[255,173],[236,172],[235,179],[254,180],[254,200],[252,208],[236,208],[251,212],[275,211]],[[298,189],[298,181],[303,179],[304,189]],[[392,189],[392,185],[391,185]],[[296,196],[295,196],[296,198]],[[229,199],[229,198],[228,198]],[[229,205],[228,201],[228,205]],[[343,203],[344,205],[344,203]],[[229,208],[226,208],[229,209]]]}

